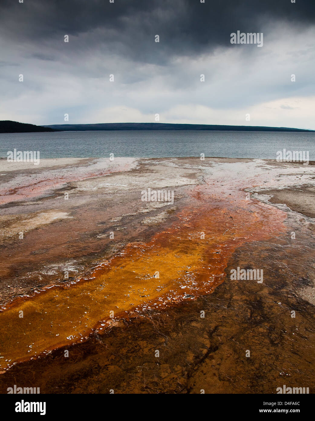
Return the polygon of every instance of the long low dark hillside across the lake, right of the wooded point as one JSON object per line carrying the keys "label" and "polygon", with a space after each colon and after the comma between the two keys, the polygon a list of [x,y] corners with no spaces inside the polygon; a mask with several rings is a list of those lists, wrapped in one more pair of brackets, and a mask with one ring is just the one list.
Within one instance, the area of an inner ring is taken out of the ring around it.
{"label": "long low dark hillside across the lake, right of the wooded point", "polygon": [[86,130],[222,130],[222,131],[285,131],[314,132],[314,130],[288,127],[225,126],[213,124],[167,124],[167,123],[100,123],[100,124],[53,124],[44,126],[62,131]]}

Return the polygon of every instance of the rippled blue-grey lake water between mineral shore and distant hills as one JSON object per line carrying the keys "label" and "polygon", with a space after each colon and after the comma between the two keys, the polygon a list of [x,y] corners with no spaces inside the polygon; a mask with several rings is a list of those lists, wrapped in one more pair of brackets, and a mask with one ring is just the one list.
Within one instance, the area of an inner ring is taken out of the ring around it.
{"label": "rippled blue-grey lake water between mineral shore and distant hills", "polygon": [[278,150],[309,151],[315,160],[315,133],[239,131],[83,131],[0,133],[0,156],[39,151],[60,157],[206,157],[276,159]]}

